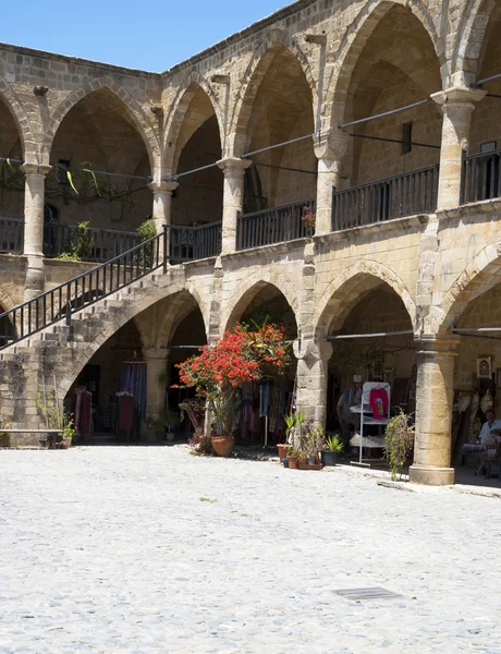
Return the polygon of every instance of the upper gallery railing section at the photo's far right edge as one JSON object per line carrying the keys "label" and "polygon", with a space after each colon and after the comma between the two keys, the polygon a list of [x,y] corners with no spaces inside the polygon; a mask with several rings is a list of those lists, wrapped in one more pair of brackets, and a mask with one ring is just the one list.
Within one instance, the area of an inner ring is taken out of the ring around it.
{"label": "upper gallery railing section at the photo's far right edge", "polygon": [[501,197],[501,149],[463,157],[461,204]]}

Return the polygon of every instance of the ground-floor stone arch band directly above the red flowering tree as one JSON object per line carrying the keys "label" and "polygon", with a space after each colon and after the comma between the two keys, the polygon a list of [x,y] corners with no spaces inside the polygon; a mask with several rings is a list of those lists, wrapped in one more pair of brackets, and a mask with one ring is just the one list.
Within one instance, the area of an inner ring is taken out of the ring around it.
{"label": "ground-floor stone arch band directly above the red flowering tree", "polygon": [[224,310],[221,314],[220,322],[221,335],[231,327],[233,320],[237,320],[243,314],[248,304],[249,294],[253,294],[254,292],[253,296],[255,296],[259,290],[266,286],[272,286],[281,292],[294,314],[296,325],[300,327],[300,298],[292,284],[283,277],[283,275],[273,275],[270,270],[262,270],[262,272],[250,275],[245,281],[239,283],[237,290],[231,295],[229,301],[224,303]]}

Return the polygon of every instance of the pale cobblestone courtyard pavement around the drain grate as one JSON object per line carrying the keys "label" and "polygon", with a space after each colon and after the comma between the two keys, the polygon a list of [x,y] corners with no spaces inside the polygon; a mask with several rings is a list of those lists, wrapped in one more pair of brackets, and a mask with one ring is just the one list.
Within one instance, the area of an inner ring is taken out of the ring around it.
{"label": "pale cobblestone courtyard pavement around the drain grate", "polygon": [[0,469],[1,654],[501,653],[497,498],[183,447]]}

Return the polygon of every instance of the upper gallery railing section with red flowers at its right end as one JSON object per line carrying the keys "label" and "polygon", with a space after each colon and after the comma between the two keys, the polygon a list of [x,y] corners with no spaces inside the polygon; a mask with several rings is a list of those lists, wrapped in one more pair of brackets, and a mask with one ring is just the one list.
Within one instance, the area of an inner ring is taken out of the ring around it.
{"label": "upper gallery railing section with red flowers at its right end", "polygon": [[315,230],[304,225],[303,217],[306,214],[315,214],[315,199],[304,199],[254,214],[239,214],[236,249],[248,250],[310,237]]}

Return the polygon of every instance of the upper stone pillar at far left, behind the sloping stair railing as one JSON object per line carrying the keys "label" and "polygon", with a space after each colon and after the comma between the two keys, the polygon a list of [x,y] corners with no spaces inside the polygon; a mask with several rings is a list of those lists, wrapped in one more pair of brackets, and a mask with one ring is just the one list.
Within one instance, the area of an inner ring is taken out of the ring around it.
{"label": "upper stone pillar at far left, behind the sloping stair railing", "polygon": [[24,300],[44,291],[44,197],[45,179],[51,166],[23,164],[24,184],[24,254],[28,259]]}

